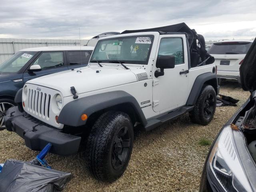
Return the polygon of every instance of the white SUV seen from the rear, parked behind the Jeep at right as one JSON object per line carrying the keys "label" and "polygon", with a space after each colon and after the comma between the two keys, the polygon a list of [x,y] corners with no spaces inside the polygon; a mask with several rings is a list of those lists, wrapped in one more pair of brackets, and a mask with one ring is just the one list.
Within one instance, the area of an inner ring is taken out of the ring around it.
{"label": "white SUV seen from the rear, parked behind the Jeep at right", "polygon": [[252,40],[223,40],[212,44],[208,53],[215,58],[219,78],[238,80],[240,64],[252,42]]}

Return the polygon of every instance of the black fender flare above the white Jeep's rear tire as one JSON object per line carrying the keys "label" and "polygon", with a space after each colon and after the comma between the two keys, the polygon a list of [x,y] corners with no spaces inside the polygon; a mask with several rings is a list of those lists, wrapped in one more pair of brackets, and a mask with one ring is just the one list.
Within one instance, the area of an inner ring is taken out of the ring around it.
{"label": "black fender flare above the white Jeep's rear tire", "polygon": [[202,87],[203,87],[204,83],[207,81],[215,89],[216,95],[219,93],[220,86],[218,85],[218,78],[217,78],[216,74],[214,74],[212,72],[207,72],[207,73],[201,74],[201,75],[197,76],[196,80],[194,81],[194,84],[193,84],[190,94],[188,96],[186,105],[196,104],[196,100],[198,99],[198,96],[202,90]]}

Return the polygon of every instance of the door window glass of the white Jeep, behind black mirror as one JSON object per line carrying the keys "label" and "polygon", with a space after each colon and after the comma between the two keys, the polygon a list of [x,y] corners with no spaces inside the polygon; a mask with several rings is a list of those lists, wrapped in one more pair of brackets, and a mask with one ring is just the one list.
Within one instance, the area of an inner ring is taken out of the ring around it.
{"label": "door window glass of the white Jeep, behind black mirror", "polygon": [[173,55],[175,65],[184,63],[182,38],[162,38],[158,55]]}

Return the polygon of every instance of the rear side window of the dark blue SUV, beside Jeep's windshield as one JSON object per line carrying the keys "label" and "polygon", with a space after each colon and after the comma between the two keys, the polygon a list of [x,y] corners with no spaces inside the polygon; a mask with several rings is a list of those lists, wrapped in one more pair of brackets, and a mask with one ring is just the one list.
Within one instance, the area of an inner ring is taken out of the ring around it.
{"label": "rear side window of the dark blue SUV, beside Jeep's windshield", "polygon": [[69,65],[88,64],[90,56],[91,54],[88,51],[69,51]]}

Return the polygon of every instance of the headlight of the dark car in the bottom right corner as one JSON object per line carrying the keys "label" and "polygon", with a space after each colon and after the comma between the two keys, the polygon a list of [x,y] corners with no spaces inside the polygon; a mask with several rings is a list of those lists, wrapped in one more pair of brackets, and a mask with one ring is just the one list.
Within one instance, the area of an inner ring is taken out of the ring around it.
{"label": "headlight of the dark car in the bottom right corner", "polygon": [[207,162],[210,183],[218,191],[252,191],[234,144],[230,126],[218,136]]}

